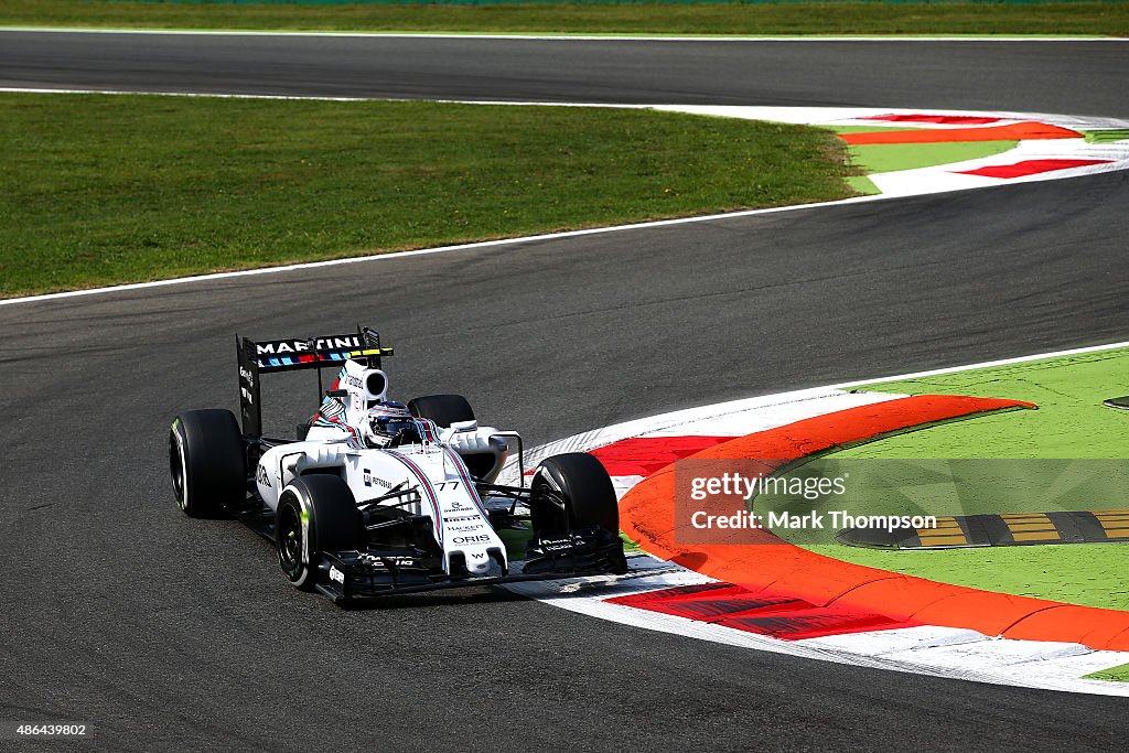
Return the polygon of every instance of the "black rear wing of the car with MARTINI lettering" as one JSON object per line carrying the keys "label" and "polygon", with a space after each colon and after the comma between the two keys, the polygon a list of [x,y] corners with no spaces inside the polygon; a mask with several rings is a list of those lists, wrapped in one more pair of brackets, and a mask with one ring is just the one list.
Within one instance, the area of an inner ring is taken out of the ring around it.
{"label": "black rear wing of the car with MARTINI lettering", "polygon": [[347,360],[361,361],[368,368],[380,368],[380,358],[392,356],[392,348],[380,347],[380,334],[369,327],[357,332],[321,338],[254,341],[235,336],[239,362],[239,411],[243,434],[262,436],[263,414],[260,401],[260,377],[264,374],[317,369],[317,392],[322,388],[322,369],[340,368]]}

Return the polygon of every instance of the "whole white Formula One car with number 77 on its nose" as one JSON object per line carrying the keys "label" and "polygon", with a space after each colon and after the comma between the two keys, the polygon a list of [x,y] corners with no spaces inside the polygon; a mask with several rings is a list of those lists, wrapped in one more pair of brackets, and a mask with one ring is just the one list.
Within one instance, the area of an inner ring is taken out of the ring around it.
{"label": "whole white Formula One car with number 77 on its nose", "polygon": [[[242,430],[227,410],[173,421],[176,502],[193,517],[242,518],[274,542],[298,588],[341,603],[627,571],[615,493],[596,458],[550,457],[526,485],[520,436],[479,426],[461,395],[388,400],[380,359],[392,349],[375,331],[236,338],[236,348]],[[339,369],[325,391],[324,368]],[[317,370],[317,413],[297,439],[264,437],[260,377],[299,369]],[[517,487],[496,483],[513,445]],[[505,532],[528,536],[523,564],[510,562]]]}

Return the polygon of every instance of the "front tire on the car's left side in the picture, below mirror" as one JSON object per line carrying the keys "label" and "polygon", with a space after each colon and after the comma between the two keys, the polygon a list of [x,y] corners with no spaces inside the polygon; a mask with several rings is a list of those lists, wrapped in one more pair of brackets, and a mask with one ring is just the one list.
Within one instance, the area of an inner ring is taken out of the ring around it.
{"label": "front tire on the car's left side in the picture, below mirror", "polygon": [[287,485],[274,515],[274,543],[287,580],[301,590],[313,590],[323,552],[360,548],[360,513],[349,484],[339,476],[317,473]]}

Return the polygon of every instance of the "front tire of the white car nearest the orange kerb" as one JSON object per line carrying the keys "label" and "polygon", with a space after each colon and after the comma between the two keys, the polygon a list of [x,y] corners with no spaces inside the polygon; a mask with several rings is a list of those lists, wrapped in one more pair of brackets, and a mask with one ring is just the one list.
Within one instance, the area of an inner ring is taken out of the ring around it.
{"label": "front tire of the white car nearest the orange kerb", "polygon": [[530,513],[533,533],[541,539],[594,527],[620,533],[612,480],[588,453],[555,455],[541,464],[533,474]]}

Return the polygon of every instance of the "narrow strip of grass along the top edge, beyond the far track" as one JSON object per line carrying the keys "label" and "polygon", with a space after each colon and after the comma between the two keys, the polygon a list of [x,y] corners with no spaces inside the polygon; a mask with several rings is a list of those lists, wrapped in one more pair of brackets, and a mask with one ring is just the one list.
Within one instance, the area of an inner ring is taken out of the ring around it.
{"label": "narrow strip of grass along the top edge, beyond the far track", "polygon": [[0,25],[584,34],[1129,34],[1129,5],[245,5],[0,0]]}

